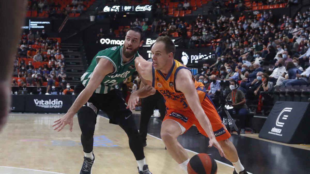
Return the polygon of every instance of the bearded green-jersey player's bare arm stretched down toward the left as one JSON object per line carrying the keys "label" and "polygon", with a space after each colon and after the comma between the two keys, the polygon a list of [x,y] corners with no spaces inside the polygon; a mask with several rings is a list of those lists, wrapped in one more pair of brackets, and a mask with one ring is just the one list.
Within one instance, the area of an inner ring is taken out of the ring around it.
{"label": "bearded green-jersey player's bare arm stretched down toward the left", "polygon": [[95,89],[100,85],[104,77],[113,71],[114,67],[108,59],[100,59],[99,63],[94,69],[93,75],[91,76],[91,79],[89,80],[87,86],[79,94],[68,112],[60,119],[54,121],[55,124],[53,125],[53,127],[57,125],[54,130],[59,128],[59,132],[62,128],[64,128],[66,124],[69,124],[70,131],[72,131],[74,114],[88,101],[88,99],[94,93]]}

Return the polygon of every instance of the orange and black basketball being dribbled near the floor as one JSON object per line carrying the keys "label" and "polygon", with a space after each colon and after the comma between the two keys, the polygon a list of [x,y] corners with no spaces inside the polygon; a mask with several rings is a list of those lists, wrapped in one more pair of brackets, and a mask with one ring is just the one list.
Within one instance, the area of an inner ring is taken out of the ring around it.
{"label": "orange and black basketball being dribbled near the floor", "polygon": [[187,172],[188,174],[216,174],[217,165],[208,154],[201,153],[189,160]]}

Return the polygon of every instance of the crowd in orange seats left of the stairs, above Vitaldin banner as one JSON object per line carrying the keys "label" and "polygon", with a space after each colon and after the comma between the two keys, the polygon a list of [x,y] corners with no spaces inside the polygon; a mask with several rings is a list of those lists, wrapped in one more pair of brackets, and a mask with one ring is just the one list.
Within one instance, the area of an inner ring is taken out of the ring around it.
{"label": "crowd in orange seats left of the stairs, above Vitaldin banner", "polygon": [[[60,94],[66,94],[62,92],[71,88],[67,82],[60,42],[49,38],[45,30],[36,33],[32,30],[29,33],[24,31],[21,36],[14,60],[12,87],[19,86],[19,90],[27,88],[29,94],[41,94],[38,91],[41,91],[42,86],[46,86],[47,93],[56,94],[54,87],[60,87]],[[29,86],[38,86],[38,89],[29,91]]]}

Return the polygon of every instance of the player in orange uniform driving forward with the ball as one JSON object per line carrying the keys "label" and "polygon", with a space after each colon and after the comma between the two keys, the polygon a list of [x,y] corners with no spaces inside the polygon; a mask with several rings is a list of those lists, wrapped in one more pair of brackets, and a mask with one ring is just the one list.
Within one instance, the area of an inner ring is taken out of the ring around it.
{"label": "player in orange uniform driving forward with the ball", "polygon": [[[135,66],[142,81],[166,99],[167,112],[162,122],[161,137],[172,158],[187,171],[188,154],[177,137],[195,124],[201,134],[209,137],[208,147],[215,146],[221,156],[232,162],[235,167],[233,174],[246,174],[235,146],[228,140],[230,134],[204,85],[195,80],[187,67],[174,60],[175,45],[170,37],[158,37],[151,52],[153,63],[137,57]],[[140,96],[145,97],[144,92],[141,89],[132,93],[128,107],[132,109]]]}

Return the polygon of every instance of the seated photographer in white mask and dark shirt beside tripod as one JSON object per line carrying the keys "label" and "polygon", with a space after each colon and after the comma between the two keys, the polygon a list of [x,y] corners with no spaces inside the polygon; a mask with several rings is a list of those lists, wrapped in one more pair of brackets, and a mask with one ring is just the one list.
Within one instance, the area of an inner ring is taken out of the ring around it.
{"label": "seated photographer in white mask and dark shirt beside tripod", "polygon": [[[241,90],[238,90],[238,83],[235,80],[230,81],[229,88],[232,90],[231,93],[228,94],[227,100],[231,100],[231,106],[236,111],[236,114],[239,116],[240,120],[240,128],[241,128],[241,134],[245,133],[245,127],[246,127],[246,115],[249,113],[248,107],[246,106],[246,98]],[[228,110],[229,114],[232,115],[232,111]],[[220,111],[219,115],[224,114],[224,111]],[[223,118],[223,117],[222,117]]]}

